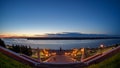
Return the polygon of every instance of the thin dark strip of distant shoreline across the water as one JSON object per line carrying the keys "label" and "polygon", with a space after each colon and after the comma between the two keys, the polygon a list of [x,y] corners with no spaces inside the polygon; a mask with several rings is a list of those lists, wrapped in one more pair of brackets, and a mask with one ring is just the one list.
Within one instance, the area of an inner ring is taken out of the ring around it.
{"label": "thin dark strip of distant shoreline across the water", "polygon": [[120,39],[120,37],[29,37],[27,40],[94,40],[94,39]]}

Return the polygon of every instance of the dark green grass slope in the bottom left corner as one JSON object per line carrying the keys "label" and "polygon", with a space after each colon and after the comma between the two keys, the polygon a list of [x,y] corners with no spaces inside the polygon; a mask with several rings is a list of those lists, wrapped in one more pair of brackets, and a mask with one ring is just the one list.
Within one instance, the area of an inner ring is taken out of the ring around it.
{"label": "dark green grass slope in the bottom left corner", "polygon": [[31,68],[29,65],[22,64],[0,52],[0,68]]}

